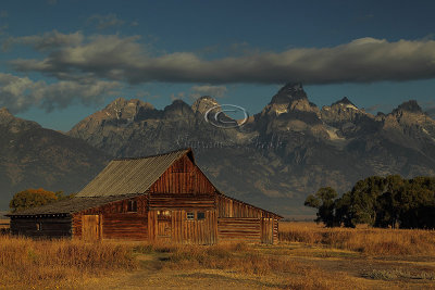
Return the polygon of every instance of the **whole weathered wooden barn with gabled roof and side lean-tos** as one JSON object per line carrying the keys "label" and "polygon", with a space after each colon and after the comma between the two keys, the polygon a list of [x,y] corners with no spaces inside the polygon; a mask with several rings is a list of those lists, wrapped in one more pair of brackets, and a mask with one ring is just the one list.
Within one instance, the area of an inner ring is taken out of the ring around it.
{"label": "whole weathered wooden barn with gabled roof and side lean-tos", "polygon": [[13,235],[199,244],[275,243],[282,218],[220,192],[191,149],[113,160],[75,198],[9,216]]}

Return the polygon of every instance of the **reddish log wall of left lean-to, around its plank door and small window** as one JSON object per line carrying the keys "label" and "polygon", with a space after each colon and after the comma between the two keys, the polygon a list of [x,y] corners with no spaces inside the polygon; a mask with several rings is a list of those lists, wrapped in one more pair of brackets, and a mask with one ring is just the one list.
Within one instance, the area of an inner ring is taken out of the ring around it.
{"label": "reddish log wall of left lean-to, around its plank door and small window", "polygon": [[[137,212],[127,211],[129,200],[137,202]],[[147,205],[148,197],[144,194],[75,213],[73,215],[73,235],[74,237],[82,237],[83,215],[99,215],[103,239],[147,240]]]}

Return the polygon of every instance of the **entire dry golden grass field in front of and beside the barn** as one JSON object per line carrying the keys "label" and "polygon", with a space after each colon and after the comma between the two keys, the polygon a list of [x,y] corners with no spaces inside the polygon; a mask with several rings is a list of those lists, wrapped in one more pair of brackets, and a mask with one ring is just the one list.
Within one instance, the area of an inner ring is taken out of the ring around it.
{"label": "entire dry golden grass field in front of and beside the barn", "polygon": [[435,289],[435,231],[281,223],[276,245],[0,236],[0,289]]}

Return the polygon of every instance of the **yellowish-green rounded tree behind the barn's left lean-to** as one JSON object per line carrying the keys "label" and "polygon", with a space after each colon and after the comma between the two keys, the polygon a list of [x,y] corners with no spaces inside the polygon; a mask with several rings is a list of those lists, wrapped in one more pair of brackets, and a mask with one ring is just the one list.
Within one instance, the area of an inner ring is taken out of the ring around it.
{"label": "yellowish-green rounded tree behind the barn's left lean-to", "polygon": [[26,189],[14,194],[9,203],[12,212],[20,212],[29,207],[40,206],[57,201],[60,193],[39,189]]}

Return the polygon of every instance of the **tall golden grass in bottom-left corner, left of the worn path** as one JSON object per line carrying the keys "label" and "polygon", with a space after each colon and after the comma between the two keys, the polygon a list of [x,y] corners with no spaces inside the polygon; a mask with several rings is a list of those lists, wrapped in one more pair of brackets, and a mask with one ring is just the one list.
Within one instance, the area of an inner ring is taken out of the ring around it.
{"label": "tall golden grass in bottom-left corner, left of the worn path", "polygon": [[136,265],[124,245],[0,236],[0,288],[57,287]]}

